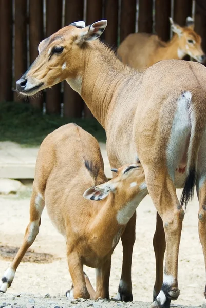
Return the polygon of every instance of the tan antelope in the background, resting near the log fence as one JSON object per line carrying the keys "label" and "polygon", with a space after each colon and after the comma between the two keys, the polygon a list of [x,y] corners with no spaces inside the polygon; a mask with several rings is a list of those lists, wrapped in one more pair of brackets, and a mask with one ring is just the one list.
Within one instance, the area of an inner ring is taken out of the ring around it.
{"label": "tan antelope in the background, resting near the log fence", "polygon": [[157,35],[132,33],[120,44],[117,55],[126,65],[138,71],[160,60],[183,59],[188,54],[200,63],[205,61],[201,49],[201,37],[194,31],[194,21],[186,18],[186,26],[180,27],[170,18],[172,31],[175,33],[168,42],[163,42]]}

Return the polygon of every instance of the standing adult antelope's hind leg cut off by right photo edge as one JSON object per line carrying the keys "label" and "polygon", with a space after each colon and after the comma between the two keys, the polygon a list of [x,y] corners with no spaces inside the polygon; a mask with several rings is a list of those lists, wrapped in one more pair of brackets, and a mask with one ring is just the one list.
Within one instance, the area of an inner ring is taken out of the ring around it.
{"label": "standing adult antelope's hind leg cut off by right photo edge", "polygon": [[[198,213],[198,229],[199,239],[202,245],[204,254],[204,264],[206,269],[206,181],[201,183],[201,178],[197,179],[197,195],[199,199],[199,213]],[[204,296],[206,298],[206,286],[204,288]]]}

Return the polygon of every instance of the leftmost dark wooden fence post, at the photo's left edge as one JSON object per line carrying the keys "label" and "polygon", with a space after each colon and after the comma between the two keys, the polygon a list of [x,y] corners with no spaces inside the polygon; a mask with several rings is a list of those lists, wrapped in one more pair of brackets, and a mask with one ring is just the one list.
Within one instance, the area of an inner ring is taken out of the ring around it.
{"label": "leftmost dark wooden fence post, at the photo's left edge", "polygon": [[0,103],[12,101],[12,0],[0,0]]}

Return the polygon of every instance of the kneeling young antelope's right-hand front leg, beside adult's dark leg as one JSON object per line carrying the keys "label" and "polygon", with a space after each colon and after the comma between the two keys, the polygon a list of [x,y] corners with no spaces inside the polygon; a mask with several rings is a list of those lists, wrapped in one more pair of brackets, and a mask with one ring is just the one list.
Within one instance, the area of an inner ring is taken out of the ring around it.
{"label": "kneeling young antelope's right-hand front leg, beside adult's dark leg", "polygon": [[96,288],[97,292],[93,299],[98,297],[109,299],[109,276],[111,269],[111,256],[100,267],[96,268]]}

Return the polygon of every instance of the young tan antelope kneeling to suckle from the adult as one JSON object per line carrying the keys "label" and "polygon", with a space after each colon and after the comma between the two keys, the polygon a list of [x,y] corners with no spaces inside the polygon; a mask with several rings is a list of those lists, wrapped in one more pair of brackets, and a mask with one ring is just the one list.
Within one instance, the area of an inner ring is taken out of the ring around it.
{"label": "young tan antelope kneeling to suckle from the adult", "polygon": [[[67,244],[73,282],[67,297],[109,298],[111,254],[147,194],[140,164],[113,171],[117,176],[107,181],[97,140],[75,124],[64,125],[44,139],[36,161],[30,222],[21,248],[3,275],[0,291],[11,285],[18,265],[39,233],[46,205]],[[96,267],[97,292],[84,274],[83,264]]]}

